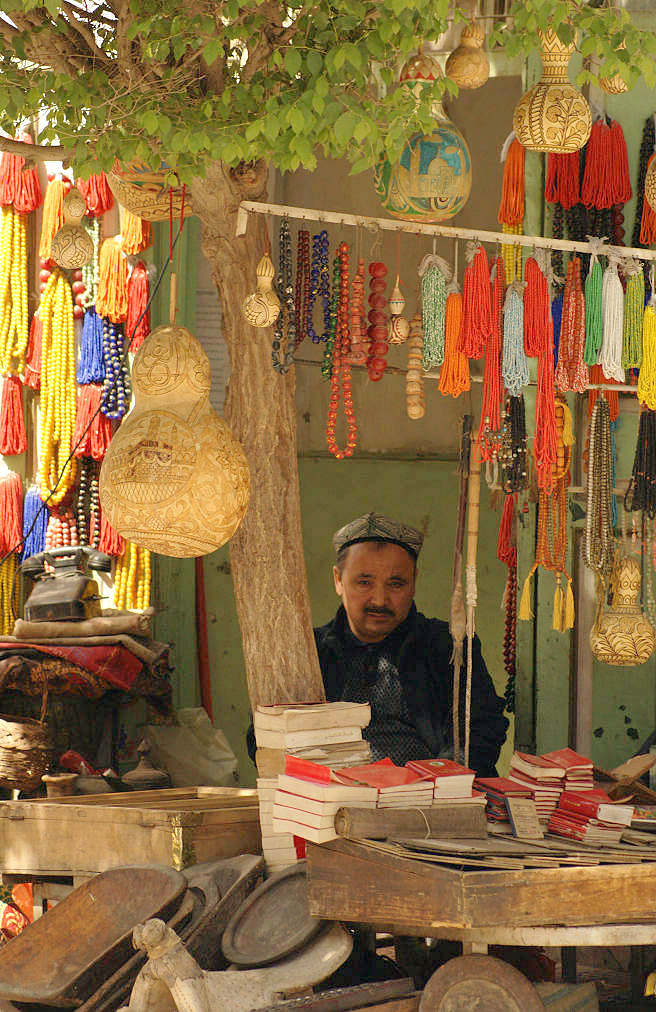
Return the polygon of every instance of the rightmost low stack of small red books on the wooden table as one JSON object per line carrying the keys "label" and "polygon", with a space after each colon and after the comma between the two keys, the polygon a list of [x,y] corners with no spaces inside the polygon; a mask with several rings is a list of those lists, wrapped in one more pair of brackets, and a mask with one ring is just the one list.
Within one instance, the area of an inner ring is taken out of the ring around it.
{"label": "rightmost low stack of small red books on the wooden table", "polygon": [[614,804],[602,790],[564,790],[549,820],[549,832],[597,846],[620,843],[633,814],[633,805]]}

